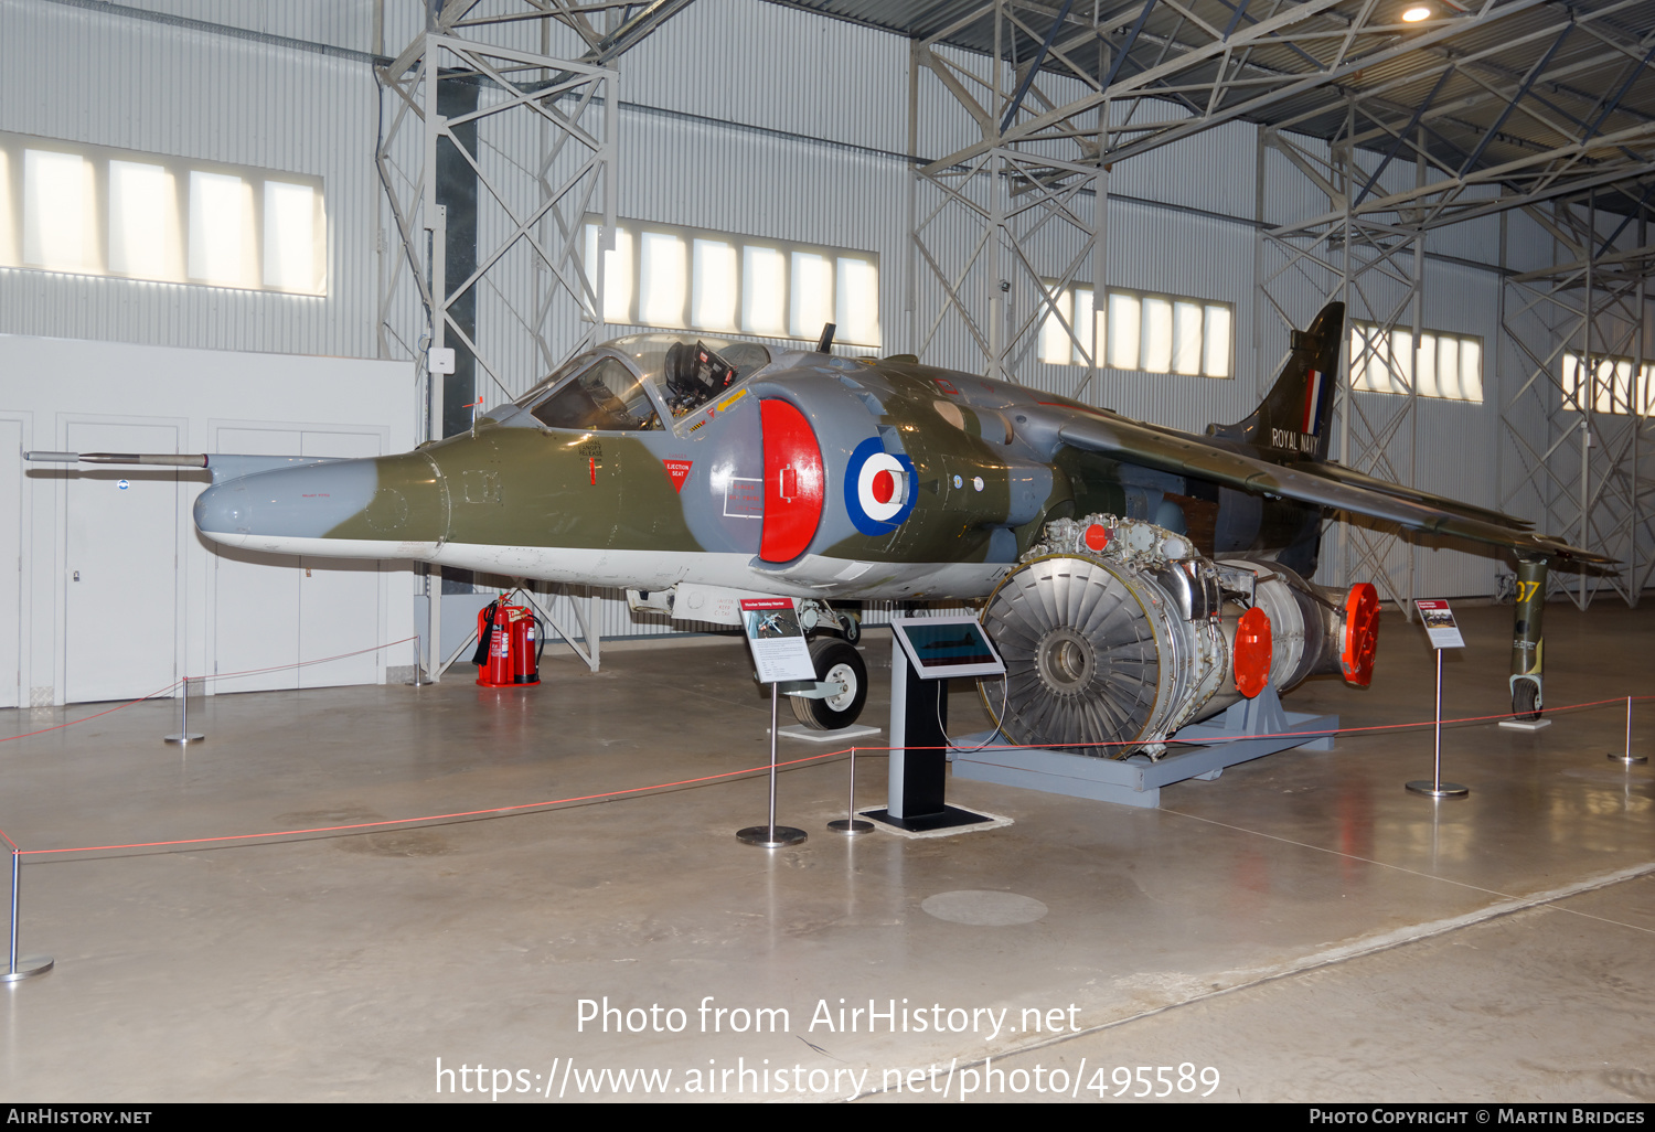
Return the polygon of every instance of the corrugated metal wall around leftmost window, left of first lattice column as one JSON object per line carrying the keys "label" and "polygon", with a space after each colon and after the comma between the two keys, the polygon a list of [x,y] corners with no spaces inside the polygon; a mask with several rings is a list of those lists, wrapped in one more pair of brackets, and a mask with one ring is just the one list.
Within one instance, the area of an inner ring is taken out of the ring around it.
{"label": "corrugated metal wall around leftmost window, left of first lattice column", "polygon": [[361,61],[0,0],[0,129],[318,175],[328,213],[324,298],[0,270],[0,331],[372,357],[376,104]]}

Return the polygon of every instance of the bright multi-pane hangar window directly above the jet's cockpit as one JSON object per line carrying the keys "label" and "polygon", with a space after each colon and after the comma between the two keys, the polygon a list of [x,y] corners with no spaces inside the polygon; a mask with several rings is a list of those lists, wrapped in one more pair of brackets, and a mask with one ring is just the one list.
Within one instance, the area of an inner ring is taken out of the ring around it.
{"label": "bright multi-pane hangar window directly above the jet's cockpit", "polygon": [[763,240],[624,220],[599,250],[586,222],[586,271],[596,293],[602,257],[604,321],[879,348],[879,257],[871,252]]}

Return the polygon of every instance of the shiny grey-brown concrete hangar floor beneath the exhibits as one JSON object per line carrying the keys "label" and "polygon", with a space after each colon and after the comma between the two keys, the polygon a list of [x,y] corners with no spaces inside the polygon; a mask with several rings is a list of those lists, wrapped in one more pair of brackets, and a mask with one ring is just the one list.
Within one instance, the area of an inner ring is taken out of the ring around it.
{"label": "shiny grey-brown concrete hangar floor beneath the exhibits", "polygon": [[[1446,712],[1496,713],[1509,609],[1460,614]],[[866,720],[884,723],[889,639],[864,647]],[[1652,655],[1648,604],[1547,611],[1552,705],[1647,695]],[[159,741],[172,707],[146,703],[0,745],[0,827],[25,849],[126,844],[720,775],[765,761],[770,703],[748,672],[727,639],[606,649],[596,675],[548,649],[538,690],[213,697],[187,751]],[[1288,707],[1427,720],[1432,675],[1423,634],[1387,617],[1370,690],[1316,680]],[[94,710],[0,712],[0,736]],[[965,690],[950,713],[957,731],[980,718]],[[1403,791],[1430,775],[1423,728],[1172,786],[1158,811],[958,781],[953,801],[1015,824],[933,841],[828,832],[834,758],[783,775],[781,816],[809,841],[775,852],[733,837],[765,814],[751,776],[384,832],[33,856],[23,952],[58,965],[0,991],[0,1092],[574,1101],[616,1092],[583,1091],[588,1074],[652,1071],[674,1101],[1097,1101],[1117,1067],[1150,1066],[1127,1092],[1655,1101],[1655,779],[1604,758],[1622,728],[1619,707],[1536,735],[1450,728],[1463,801]],[[1655,703],[1632,741],[1655,748]],[[879,803],[882,760],[859,766]],[[604,1033],[606,998],[640,1010]],[[599,1013],[584,1024],[583,1000]],[[869,1033],[869,1000],[894,1000],[897,1033]],[[786,1023],[732,1033],[760,1008]],[[617,1033],[629,1018],[642,1033]]]}

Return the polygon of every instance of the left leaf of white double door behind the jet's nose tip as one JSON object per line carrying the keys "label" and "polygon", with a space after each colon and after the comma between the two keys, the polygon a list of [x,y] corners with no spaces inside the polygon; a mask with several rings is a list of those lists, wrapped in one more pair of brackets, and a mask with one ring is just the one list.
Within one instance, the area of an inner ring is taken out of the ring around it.
{"label": "left leaf of white double door behind the jet's nose tip", "polygon": [[[220,427],[213,452],[300,455],[298,429]],[[209,543],[213,563],[213,695],[300,685],[300,569],[291,554]],[[268,669],[268,670],[260,670]]]}

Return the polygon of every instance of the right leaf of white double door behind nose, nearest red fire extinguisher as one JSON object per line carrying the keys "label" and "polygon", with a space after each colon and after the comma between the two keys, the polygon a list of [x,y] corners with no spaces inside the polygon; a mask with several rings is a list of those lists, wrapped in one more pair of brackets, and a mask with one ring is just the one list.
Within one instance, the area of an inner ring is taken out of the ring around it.
{"label": "right leaf of white double door behind nose, nearest red fire extinguisher", "polygon": [[[377,432],[306,429],[301,440],[301,455],[308,457],[376,457],[382,450]],[[384,644],[379,611],[381,564],[343,558],[301,558],[300,566],[303,568],[298,579],[300,657],[306,662],[300,669],[300,687],[379,684],[386,665],[384,650],[374,650],[374,645]]]}

